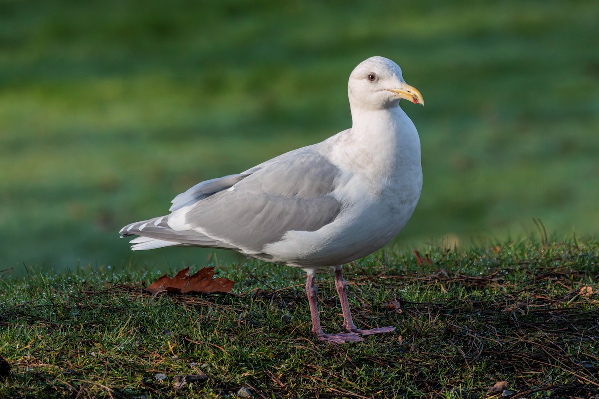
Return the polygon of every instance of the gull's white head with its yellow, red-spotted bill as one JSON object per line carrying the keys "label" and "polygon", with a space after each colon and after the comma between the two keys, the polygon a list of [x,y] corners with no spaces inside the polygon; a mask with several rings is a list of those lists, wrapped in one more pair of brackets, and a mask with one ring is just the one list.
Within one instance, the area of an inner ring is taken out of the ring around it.
{"label": "gull's white head with its yellow, red-spotted bill", "polygon": [[388,109],[397,106],[400,99],[424,105],[420,92],[404,81],[400,66],[384,57],[371,57],[356,66],[347,92],[352,109]]}

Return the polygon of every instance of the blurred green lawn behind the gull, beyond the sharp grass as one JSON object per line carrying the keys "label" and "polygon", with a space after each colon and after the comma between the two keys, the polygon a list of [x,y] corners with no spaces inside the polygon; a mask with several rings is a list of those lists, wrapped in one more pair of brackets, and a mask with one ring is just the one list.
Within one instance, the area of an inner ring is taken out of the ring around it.
{"label": "blurred green lawn behind the gull, beyond the sharp grass", "polygon": [[[392,245],[599,233],[599,2],[0,1],[0,270],[179,268],[120,227],[202,179],[350,127],[347,78],[401,65],[426,106]],[[218,254],[219,258],[232,259]]]}

